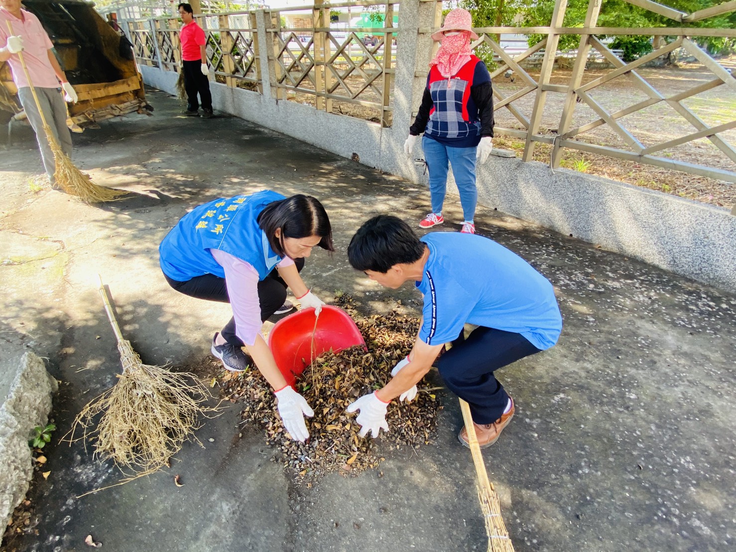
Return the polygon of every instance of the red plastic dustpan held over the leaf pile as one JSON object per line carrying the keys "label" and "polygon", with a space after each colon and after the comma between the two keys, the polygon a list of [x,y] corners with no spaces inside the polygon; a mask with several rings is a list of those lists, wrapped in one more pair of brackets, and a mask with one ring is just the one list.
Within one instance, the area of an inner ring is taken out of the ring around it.
{"label": "red plastic dustpan held over the leaf pile", "polygon": [[[314,342],[312,333],[314,332]],[[286,384],[294,386],[311,361],[325,351],[335,353],[363,345],[353,319],[340,308],[324,305],[314,329],[314,308],[305,308],[280,319],[269,332],[269,347]],[[310,353],[313,357],[310,358]]]}

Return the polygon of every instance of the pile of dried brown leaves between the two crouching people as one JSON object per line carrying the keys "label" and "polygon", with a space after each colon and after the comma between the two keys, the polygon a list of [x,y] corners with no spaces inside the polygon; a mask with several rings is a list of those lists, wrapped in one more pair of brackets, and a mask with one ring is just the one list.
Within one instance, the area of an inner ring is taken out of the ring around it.
{"label": "pile of dried brown leaves between the two crouching people", "polygon": [[[353,314],[350,297],[343,296],[336,304]],[[350,347],[340,353],[323,353],[308,366],[300,381],[299,391],[314,409],[307,418],[310,439],[300,443],[286,435],[283,422],[275,408],[275,397],[268,383],[257,370],[242,372],[225,382],[230,400],[244,403],[242,417],[255,422],[266,432],[266,442],[275,445],[277,461],[301,477],[315,476],[339,470],[358,473],[377,467],[381,461],[377,445],[389,449],[418,448],[434,437],[436,417],[441,406],[434,389],[420,381],[420,392],[411,403],[389,405],[386,420],[389,433],[381,431],[378,439],[358,436],[360,425],[355,414],[345,408],[363,394],[379,389],[391,377],[391,369],[411,350],[417,336],[419,320],[392,311],[386,316],[372,315],[356,319],[364,336],[367,351]]]}

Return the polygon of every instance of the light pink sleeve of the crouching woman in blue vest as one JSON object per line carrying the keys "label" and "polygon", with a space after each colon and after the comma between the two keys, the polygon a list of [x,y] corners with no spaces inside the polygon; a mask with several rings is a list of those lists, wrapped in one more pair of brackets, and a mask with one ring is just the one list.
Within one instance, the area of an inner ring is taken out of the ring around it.
{"label": "light pink sleeve of the crouching woman in blue vest", "polygon": [[227,294],[233,308],[237,336],[244,344],[253,345],[261,331],[261,301],[258,300],[258,271],[250,263],[220,250],[210,250],[222,266]]}

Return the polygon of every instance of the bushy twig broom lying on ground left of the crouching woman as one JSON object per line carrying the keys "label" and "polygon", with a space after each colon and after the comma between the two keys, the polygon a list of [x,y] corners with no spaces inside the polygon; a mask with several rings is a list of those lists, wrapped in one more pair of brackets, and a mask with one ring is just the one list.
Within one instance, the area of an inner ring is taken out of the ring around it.
{"label": "bushy twig broom lying on ground left of the crouching woman", "polygon": [[[123,473],[132,470],[132,479],[167,465],[189,434],[199,428],[199,414],[219,408],[203,404],[210,394],[194,374],[173,373],[165,367],[143,364],[122,336],[102,280],[99,292],[118,340],[123,372],[117,375],[118,382],[112,388],[82,408],[74,419],[68,441],[86,441],[96,434],[95,455],[112,459]],[[93,419],[100,413],[97,427],[91,430]],[[82,436],[74,439],[79,426]]]}

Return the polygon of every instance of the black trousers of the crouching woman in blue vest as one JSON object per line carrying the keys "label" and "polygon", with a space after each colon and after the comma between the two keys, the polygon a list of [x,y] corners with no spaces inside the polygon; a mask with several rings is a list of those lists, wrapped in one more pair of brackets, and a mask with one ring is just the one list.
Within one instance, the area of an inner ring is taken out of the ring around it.
{"label": "black trousers of the crouching woman in blue vest", "polygon": [[[294,259],[297,270],[302,272],[304,268],[304,259]],[[230,302],[227,295],[227,283],[225,279],[213,274],[205,274],[197,276],[186,282],[178,282],[171,280],[170,277],[164,275],[169,286],[175,290],[188,295],[189,297],[197,297],[197,299],[205,299],[208,301]],[[258,282],[258,300],[261,302],[261,321],[266,322],[286,301],[286,282],[278,275],[278,271],[273,269],[268,276]],[[220,335],[224,340],[236,347],[243,347],[243,341],[236,336],[235,319],[231,318],[224,328],[220,331]]]}

